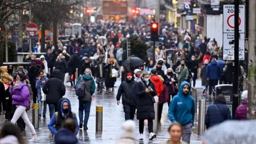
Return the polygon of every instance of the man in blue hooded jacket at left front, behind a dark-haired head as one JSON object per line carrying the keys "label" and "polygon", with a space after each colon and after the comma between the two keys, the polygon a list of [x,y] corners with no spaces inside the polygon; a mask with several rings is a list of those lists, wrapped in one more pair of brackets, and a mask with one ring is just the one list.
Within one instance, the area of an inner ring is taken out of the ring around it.
{"label": "man in blue hooded jacket at left front, behind a dark-haired head", "polygon": [[[71,111],[71,104],[67,98],[61,98],[58,102],[58,111],[55,111],[54,115],[51,118],[51,121],[48,124],[48,129],[52,132],[52,134],[56,134],[58,130],[61,128],[62,122],[64,122],[67,118],[73,118],[76,122],[76,134],[79,131],[79,125],[77,122],[76,114]],[[54,127],[55,125],[55,127]]]}

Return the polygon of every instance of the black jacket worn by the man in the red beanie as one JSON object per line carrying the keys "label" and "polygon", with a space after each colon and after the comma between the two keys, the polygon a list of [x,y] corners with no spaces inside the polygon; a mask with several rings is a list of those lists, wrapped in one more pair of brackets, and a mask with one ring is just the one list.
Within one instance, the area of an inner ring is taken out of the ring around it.
{"label": "black jacket worn by the man in the red beanie", "polygon": [[132,75],[131,81],[127,81],[126,79],[119,86],[119,89],[116,95],[116,100],[119,101],[122,95],[122,103],[130,106],[137,106],[137,96],[136,96],[137,86],[138,86],[138,83],[134,81],[134,77]]}

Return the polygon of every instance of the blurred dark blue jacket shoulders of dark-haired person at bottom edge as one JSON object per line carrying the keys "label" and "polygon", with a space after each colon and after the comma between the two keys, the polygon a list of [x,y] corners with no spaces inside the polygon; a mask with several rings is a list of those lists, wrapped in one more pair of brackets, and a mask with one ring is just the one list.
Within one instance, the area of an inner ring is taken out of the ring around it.
{"label": "blurred dark blue jacket shoulders of dark-haired person at bottom edge", "polygon": [[55,134],[54,144],[79,144],[76,134],[68,129],[60,129]]}

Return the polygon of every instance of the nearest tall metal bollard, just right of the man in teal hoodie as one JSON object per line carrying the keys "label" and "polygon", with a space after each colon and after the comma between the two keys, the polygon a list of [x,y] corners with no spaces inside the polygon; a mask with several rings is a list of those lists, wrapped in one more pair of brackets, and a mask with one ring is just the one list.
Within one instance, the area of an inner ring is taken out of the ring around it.
{"label": "nearest tall metal bollard, just right of the man in teal hoodie", "polygon": [[201,135],[205,131],[205,111],[206,111],[206,100],[199,100],[199,115],[198,115],[198,135]]}

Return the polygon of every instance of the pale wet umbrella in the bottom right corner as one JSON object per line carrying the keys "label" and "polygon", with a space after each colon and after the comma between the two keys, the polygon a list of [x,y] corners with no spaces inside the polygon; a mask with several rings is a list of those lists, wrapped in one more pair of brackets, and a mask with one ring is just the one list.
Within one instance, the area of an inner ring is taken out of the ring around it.
{"label": "pale wet umbrella in the bottom right corner", "polygon": [[247,144],[255,143],[256,121],[225,121],[210,127],[202,135],[206,144]]}

